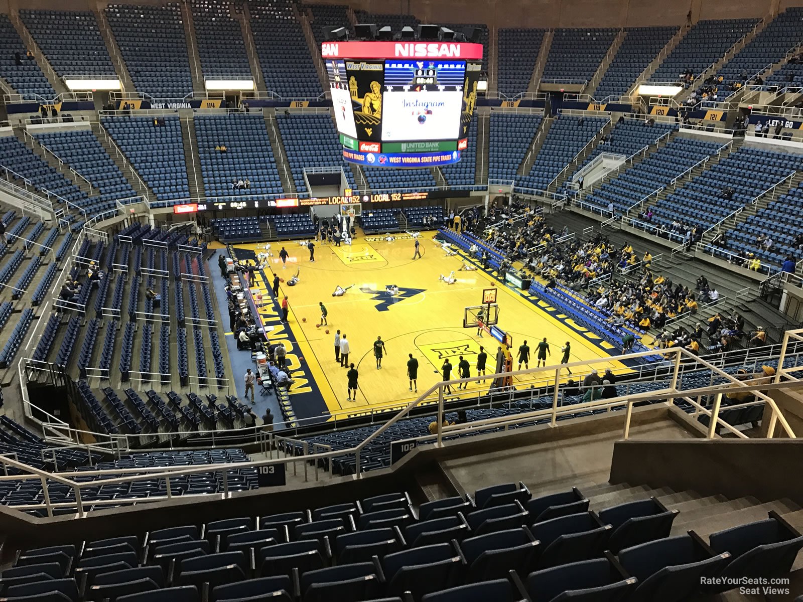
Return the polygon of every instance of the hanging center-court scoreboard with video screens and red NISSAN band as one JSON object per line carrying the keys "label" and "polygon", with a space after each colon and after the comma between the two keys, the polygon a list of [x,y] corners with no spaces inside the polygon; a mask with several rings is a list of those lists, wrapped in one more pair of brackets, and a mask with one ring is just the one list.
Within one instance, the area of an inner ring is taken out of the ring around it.
{"label": "hanging center-court scoreboard with video screens and red NISSAN band", "polygon": [[332,42],[321,50],[346,161],[395,168],[460,161],[481,44]]}

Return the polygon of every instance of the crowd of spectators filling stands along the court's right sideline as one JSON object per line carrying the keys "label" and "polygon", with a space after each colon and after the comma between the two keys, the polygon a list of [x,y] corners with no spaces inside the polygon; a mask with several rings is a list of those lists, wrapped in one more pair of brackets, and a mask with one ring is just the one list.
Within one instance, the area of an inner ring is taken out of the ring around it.
{"label": "crowd of spectators filling stands along the court's right sideline", "polygon": [[[726,189],[723,193],[732,192]],[[649,221],[651,209],[645,209],[640,217]],[[736,343],[764,344],[764,330],[748,336],[744,318],[737,311],[715,314],[706,327],[700,322],[692,329],[669,327],[672,319],[695,314],[701,304],[715,303],[721,295],[705,276],[690,288],[656,274],[650,252],[639,254],[629,242],[618,247],[601,234],[585,242],[568,236],[567,228],[556,231],[542,214],[515,196],[509,205],[491,205],[487,217],[475,223],[475,235],[484,231],[486,244],[503,255],[500,273],[515,270],[514,262],[520,261],[520,276],[540,277],[547,287],[560,284],[576,291],[589,307],[607,315],[609,323],[653,334],[659,348],[681,346],[697,354],[728,352]],[[687,241],[701,236],[698,226],[680,222],[673,222],[669,231]],[[803,246],[803,234],[798,238]],[[634,278],[605,278],[623,272]],[[598,393],[603,389],[601,386]]]}

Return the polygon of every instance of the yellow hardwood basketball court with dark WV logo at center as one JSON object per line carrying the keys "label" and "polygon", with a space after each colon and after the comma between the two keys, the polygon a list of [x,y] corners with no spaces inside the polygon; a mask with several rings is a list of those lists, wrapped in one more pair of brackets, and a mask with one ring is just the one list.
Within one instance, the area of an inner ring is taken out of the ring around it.
{"label": "yellow hardwood basketball court with dark WV logo at center", "polygon": [[[552,307],[539,305],[529,294],[521,294],[496,281],[479,266],[477,270],[460,270],[463,263],[475,262],[462,253],[448,255],[433,233],[422,234],[422,258],[412,259],[414,240],[409,234],[401,234],[393,241],[385,237],[357,237],[351,246],[334,246],[316,243],[315,262],[309,261],[309,251],[298,241],[275,242],[271,245],[274,254],[268,260],[260,287],[270,288],[271,270],[284,283],[280,285],[279,298],[287,295],[289,329],[298,345],[288,350],[303,360],[309,377],[315,380],[323,401],[331,413],[341,416],[364,412],[368,407],[400,407],[418,395],[410,391],[407,378],[408,354],[418,359],[418,391],[426,391],[442,380],[441,368],[448,358],[453,366],[452,378],[458,377],[457,364],[463,356],[471,365],[471,376],[476,375],[475,364],[480,346],[488,354],[487,367],[493,371],[499,342],[488,332],[478,335],[473,326],[477,320],[478,307],[487,301],[483,291],[497,289],[495,304],[488,313],[498,312],[497,327],[512,337],[513,368],[516,369],[516,351],[524,340],[531,348],[530,368],[536,366],[536,345],[547,337],[552,355],[548,364],[560,362],[560,348],[571,342],[570,361],[605,358],[616,350],[607,350],[593,333],[578,327],[565,316],[555,314]],[[290,259],[283,267],[279,250],[287,249]],[[245,251],[243,257],[259,253],[264,246],[257,244],[235,245]],[[456,282],[447,284],[439,279],[454,270]],[[287,286],[287,280],[299,272],[299,283]],[[262,280],[262,279],[260,279]],[[334,297],[336,287],[349,287],[343,296]],[[385,287],[397,286],[397,295],[391,295]],[[328,326],[320,323],[318,303],[328,309]],[[471,309],[468,309],[471,308]],[[489,321],[486,317],[484,321]],[[492,319],[490,320],[492,321]],[[472,324],[464,327],[464,323]],[[328,328],[329,334],[326,334]],[[353,362],[360,372],[357,401],[347,400],[346,369],[335,360],[334,335],[337,329],[348,337]],[[373,342],[381,336],[385,341],[385,357],[381,369],[377,369],[373,356]],[[524,368],[524,366],[523,366]],[[629,372],[630,368],[615,361],[601,361],[597,369],[612,368],[614,372]],[[563,371],[564,380],[569,375]],[[554,376],[554,370],[536,372],[534,375],[518,376],[516,388],[538,384],[542,379]],[[582,375],[580,375],[582,376]],[[575,375],[577,377],[577,375]],[[488,384],[491,380],[488,380]],[[487,392],[488,385],[471,384],[460,397],[476,397]],[[304,388],[309,393],[308,388]],[[291,394],[293,389],[291,389]]]}

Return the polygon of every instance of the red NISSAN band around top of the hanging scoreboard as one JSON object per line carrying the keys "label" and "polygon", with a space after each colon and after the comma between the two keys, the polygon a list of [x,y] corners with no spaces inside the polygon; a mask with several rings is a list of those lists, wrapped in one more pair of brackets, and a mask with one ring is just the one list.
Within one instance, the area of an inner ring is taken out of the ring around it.
{"label": "red NISSAN band around top of the hanging scoreboard", "polygon": [[483,45],[455,42],[324,42],[320,54],[342,59],[483,59]]}

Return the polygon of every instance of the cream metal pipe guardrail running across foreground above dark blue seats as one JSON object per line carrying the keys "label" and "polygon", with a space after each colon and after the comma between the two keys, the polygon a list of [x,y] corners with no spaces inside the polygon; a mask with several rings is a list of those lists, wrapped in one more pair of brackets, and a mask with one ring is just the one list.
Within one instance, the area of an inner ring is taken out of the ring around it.
{"label": "cream metal pipe guardrail running across foreground above dark blue seats", "polygon": [[[799,342],[803,342],[803,330],[797,332],[789,332],[785,337],[785,346],[789,344],[789,340],[796,340]],[[158,498],[147,498],[144,500],[143,498],[131,498],[128,500],[127,498],[115,498],[113,500],[114,504],[126,503],[126,502],[136,502],[136,503],[147,503],[147,502],[155,502],[160,501],[161,499],[170,499],[173,498],[172,491],[170,489],[170,479],[177,478],[177,477],[185,477],[191,474],[202,474],[202,473],[220,473],[222,476],[222,485],[223,491],[219,494],[205,494],[204,498],[209,499],[210,495],[218,498],[230,498],[232,495],[236,494],[229,489],[228,486],[228,478],[229,478],[229,471],[233,469],[250,469],[262,466],[272,466],[276,464],[287,464],[287,462],[291,462],[293,466],[297,466],[298,462],[302,462],[302,466],[304,466],[304,473],[305,479],[308,478],[307,470],[308,466],[316,466],[316,477],[317,477],[317,466],[318,462],[321,460],[326,460],[331,462],[332,458],[335,456],[343,456],[343,455],[353,455],[355,458],[355,472],[356,474],[353,478],[361,478],[363,476],[363,470],[361,470],[361,462],[360,457],[363,450],[365,450],[366,446],[368,446],[372,441],[375,441],[377,437],[379,437],[382,433],[384,433],[387,429],[389,429],[393,424],[397,421],[402,420],[403,418],[407,417],[410,413],[410,410],[418,407],[421,405],[422,402],[425,401],[437,401],[438,404],[438,413],[437,413],[437,422],[438,422],[438,430],[434,435],[424,434],[422,437],[416,437],[417,441],[425,441],[431,442],[437,447],[442,447],[444,445],[443,437],[445,436],[452,436],[462,433],[478,433],[483,430],[487,429],[499,429],[502,427],[503,429],[507,429],[513,425],[520,425],[521,423],[530,422],[533,420],[539,420],[543,418],[549,418],[549,425],[554,427],[556,422],[558,421],[558,417],[563,416],[567,413],[577,413],[583,411],[593,411],[593,410],[600,410],[606,409],[608,411],[613,411],[614,409],[624,409],[625,410],[625,421],[623,425],[623,433],[622,436],[624,438],[630,437],[630,428],[631,428],[631,420],[633,415],[633,408],[634,405],[638,404],[642,401],[657,401],[657,400],[665,400],[667,403],[672,403],[676,399],[682,399],[683,401],[690,404],[695,409],[695,416],[700,414],[707,415],[710,417],[710,425],[708,427],[707,437],[712,439],[717,437],[717,429],[725,429],[732,435],[739,437],[739,438],[747,438],[744,433],[741,433],[738,429],[734,428],[732,425],[729,425],[726,421],[720,417],[720,409],[722,403],[722,397],[726,391],[728,393],[744,393],[744,392],[752,392],[755,393],[756,401],[751,401],[745,404],[739,405],[732,405],[728,406],[729,409],[733,408],[740,408],[740,407],[748,407],[751,405],[761,405],[764,404],[765,408],[770,409],[771,414],[768,418],[768,433],[769,437],[772,437],[777,424],[780,422],[781,428],[785,431],[785,434],[788,437],[795,437],[795,433],[793,429],[789,426],[789,423],[785,420],[785,417],[780,413],[775,401],[772,400],[772,397],[769,397],[766,393],[761,393],[761,389],[764,390],[775,390],[777,388],[783,388],[785,386],[785,382],[781,382],[782,379],[785,380],[797,380],[794,376],[791,376],[791,373],[797,373],[799,371],[803,371],[803,366],[795,366],[792,368],[783,368],[783,360],[785,359],[785,347],[782,348],[781,351],[781,358],[779,360],[779,370],[778,375],[775,379],[775,384],[765,384],[765,383],[757,383],[757,382],[743,382],[736,379],[735,376],[729,375],[727,372],[719,369],[715,364],[708,362],[707,360],[703,360],[691,352],[687,352],[683,348],[671,348],[666,350],[652,350],[648,352],[639,352],[634,354],[628,354],[626,356],[622,356],[622,359],[634,358],[638,356],[644,355],[662,355],[665,360],[669,362],[668,367],[671,368],[671,376],[666,376],[668,380],[668,386],[665,388],[661,388],[658,391],[651,391],[647,393],[639,393],[636,395],[627,395],[627,396],[619,396],[613,399],[597,399],[593,401],[583,402],[580,404],[573,404],[562,406],[560,405],[560,371],[563,368],[581,368],[586,367],[588,368],[590,365],[593,365],[594,362],[573,362],[572,364],[562,364],[562,365],[553,365],[544,368],[543,370],[524,370],[524,371],[514,371],[514,372],[505,372],[503,374],[495,375],[495,378],[499,379],[505,376],[511,376],[512,378],[516,378],[519,376],[523,376],[528,374],[529,372],[550,372],[553,373],[552,383],[554,384],[553,392],[552,392],[552,407],[545,408],[545,409],[537,409],[531,412],[523,412],[516,415],[510,415],[505,417],[495,417],[489,418],[486,420],[480,421],[471,421],[461,425],[454,425],[454,426],[443,426],[443,418],[445,415],[444,410],[444,402],[448,397],[446,393],[446,389],[450,390],[451,386],[454,384],[460,383],[479,383],[479,380],[483,379],[483,376],[475,376],[470,379],[460,379],[460,380],[450,380],[446,382],[441,382],[434,384],[432,387],[427,389],[425,393],[423,393],[420,397],[411,401],[407,404],[401,412],[397,413],[389,421],[385,422],[384,425],[381,426],[380,429],[377,429],[369,437],[366,437],[365,440],[361,441],[360,444],[353,446],[349,449],[340,449],[337,451],[332,451],[331,449],[316,452],[313,449],[312,453],[309,452],[308,442],[305,441],[298,441],[290,439],[289,437],[277,437],[273,433],[267,432],[264,427],[252,427],[251,433],[253,433],[255,437],[255,441],[257,441],[260,445],[260,449],[263,449],[263,454],[265,454],[266,459],[252,461],[252,462],[236,462],[236,463],[226,463],[223,465],[204,465],[204,466],[169,466],[169,467],[150,467],[150,468],[136,468],[136,469],[114,469],[108,471],[80,471],[79,473],[54,473],[50,474],[43,470],[37,470],[30,466],[26,466],[21,464],[20,462],[14,461],[10,458],[0,457],[0,464],[4,466],[13,467],[15,469],[21,470],[23,475],[18,475],[13,478],[22,478],[22,479],[30,479],[30,478],[39,478],[43,484],[43,489],[47,490],[48,483],[47,481],[50,480],[52,482],[59,483],[61,485],[67,485],[71,487],[71,489],[75,493],[75,502],[59,502],[59,503],[51,503],[49,499],[49,495],[47,492],[44,495],[44,502],[39,504],[29,504],[25,506],[14,506],[17,510],[30,510],[30,509],[37,509],[43,508],[47,510],[48,515],[52,515],[52,512],[55,508],[63,508],[63,507],[75,507],[76,514],[79,517],[83,517],[87,514],[86,507],[87,505],[92,506],[103,506],[107,504],[107,502],[103,501],[96,501],[96,500],[84,500],[82,498],[82,489],[86,489],[96,485],[94,481],[87,481],[87,482],[76,482],[72,480],[70,477],[77,475],[77,476],[89,476],[95,474],[96,476],[104,476],[106,474],[124,474],[125,476],[115,476],[114,478],[104,478],[104,484],[123,484],[123,483],[131,483],[131,482],[138,482],[143,480],[153,480],[153,479],[165,479],[166,483],[166,495],[160,496]],[[716,378],[717,380],[721,381],[716,384],[713,384],[713,380],[711,380],[712,384],[707,386],[698,387],[698,388],[688,388],[685,390],[679,389],[679,386],[683,386],[682,381],[679,380],[679,375],[681,374],[681,368],[684,361],[689,361],[691,363],[698,364],[699,367],[708,368],[711,370],[711,379]],[[577,370],[580,372],[580,370]],[[487,376],[485,377],[487,378]],[[495,388],[490,391],[490,393],[498,394],[497,393],[505,393],[503,388]],[[433,399],[434,397],[434,399]],[[707,407],[704,405],[704,398],[711,399],[713,398],[713,403],[711,407]],[[766,411],[766,410],[765,410]],[[111,437],[108,440],[108,443],[111,442]],[[292,441],[297,444],[302,445],[302,454],[300,455],[293,455],[289,458],[286,456],[285,458],[268,458],[268,454],[272,453],[269,452],[269,449],[272,448],[273,445],[277,441]],[[62,440],[63,442],[63,440]],[[306,445],[304,445],[306,444]],[[101,442],[100,445],[103,445]],[[308,462],[311,462],[311,465],[308,465]],[[7,470],[7,469],[6,469]],[[332,478],[332,474],[330,473],[330,478]],[[0,481],[11,479],[6,477],[0,477]],[[187,496],[182,496],[187,497]],[[108,505],[108,504],[107,504]]]}

